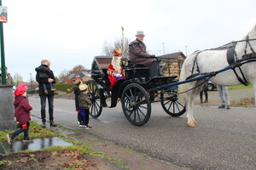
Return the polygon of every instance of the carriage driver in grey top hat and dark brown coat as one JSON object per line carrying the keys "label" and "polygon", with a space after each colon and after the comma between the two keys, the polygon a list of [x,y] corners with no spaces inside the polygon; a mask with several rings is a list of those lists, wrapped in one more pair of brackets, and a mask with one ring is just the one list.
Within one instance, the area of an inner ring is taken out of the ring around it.
{"label": "carriage driver in grey top hat and dark brown coat", "polygon": [[154,54],[148,54],[143,42],[145,35],[143,31],[137,31],[136,40],[129,44],[129,57],[133,64],[143,65],[150,69],[150,77],[163,76],[160,63]]}

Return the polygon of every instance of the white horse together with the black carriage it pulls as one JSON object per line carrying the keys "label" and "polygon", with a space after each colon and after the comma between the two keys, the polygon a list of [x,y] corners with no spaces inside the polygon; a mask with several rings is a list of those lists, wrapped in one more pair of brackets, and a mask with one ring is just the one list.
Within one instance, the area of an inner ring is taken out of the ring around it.
{"label": "white horse together with the black carriage it pulls", "polygon": [[[255,48],[256,25],[240,41],[190,54],[183,63],[180,82],[175,81],[176,76],[151,78],[148,68],[121,62],[125,79],[115,82],[112,89],[109,89],[107,74],[112,57],[97,56],[91,68],[93,80],[87,82],[92,99],[90,116],[100,116],[102,107],[107,106],[106,99],[111,97],[110,107],[115,107],[120,99],[128,121],[143,126],[150,117],[151,103],[160,102],[170,116],[181,116],[187,111],[187,125],[195,127],[195,96],[208,81],[224,86],[247,85],[250,82],[256,96]],[[186,93],[186,107],[177,97],[177,86],[181,84],[179,90],[180,94]]]}

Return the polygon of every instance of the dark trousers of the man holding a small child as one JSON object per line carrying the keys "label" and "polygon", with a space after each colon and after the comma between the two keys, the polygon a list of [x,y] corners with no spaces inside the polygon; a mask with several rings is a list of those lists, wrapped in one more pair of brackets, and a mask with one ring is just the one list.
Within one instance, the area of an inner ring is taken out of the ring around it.
{"label": "dark trousers of the man holding a small child", "polygon": [[41,119],[42,122],[45,122],[45,106],[46,106],[46,98],[48,99],[48,105],[49,105],[49,121],[53,121],[53,109],[54,109],[54,95],[41,95],[40,100],[41,100]]}

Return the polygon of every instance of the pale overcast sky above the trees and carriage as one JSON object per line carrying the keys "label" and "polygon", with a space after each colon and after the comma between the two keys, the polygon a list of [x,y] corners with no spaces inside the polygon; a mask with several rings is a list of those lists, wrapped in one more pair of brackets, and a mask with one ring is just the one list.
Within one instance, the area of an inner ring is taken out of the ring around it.
{"label": "pale overcast sky above the trees and carriage", "polygon": [[[23,81],[42,59],[55,76],[75,65],[90,69],[104,42],[133,41],[144,31],[150,54],[217,48],[246,36],[256,24],[255,0],[2,0],[5,64]],[[186,48],[187,47],[187,48]]]}

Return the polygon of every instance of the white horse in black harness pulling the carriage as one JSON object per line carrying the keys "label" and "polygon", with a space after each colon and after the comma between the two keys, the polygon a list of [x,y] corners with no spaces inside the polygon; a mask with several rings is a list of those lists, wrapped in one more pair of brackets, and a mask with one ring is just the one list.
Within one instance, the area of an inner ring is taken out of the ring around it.
{"label": "white horse in black harness pulling the carriage", "polygon": [[[236,51],[236,55],[234,57],[236,58],[236,60],[242,59],[242,56],[245,54],[245,50],[247,51],[247,54],[253,54],[253,51],[256,52],[255,38],[256,25],[251,31],[248,32],[246,37],[243,37],[241,39],[241,41],[231,42],[230,44],[227,44],[220,48],[207,49],[201,52],[195,52],[193,54],[190,54],[187,59],[184,60],[179,81],[184,81],[192,74],[195,75],[195,77],[200,77],[201,74],[209,73],[212,71],[219,71],[221,69],[224,69],[226,66],[229,66],[230,64],[227,61],[227,48],[234,44],[236,44],[236,46],[233,46],[233,49],[235,49]],[[247,57],[250,56],[247,55]],[[245,63],[241,65],[241,71],[239,71],[239,68],[236,68],[236,71],[239,77],[244,76],[247,82],[253,84],[254,100],[256,100],[256,61]],[[178,87],[179,93],[182,93],[192,88],[192,90],[185,93],[186,111],[188,117],[187,125],[189,127],[195,127],[196,122],[193,117],[194,100],[196,95],[199,94],[199,92],[201,91],[206,81],[206,79],[201,79],[195,82],[184,83],[182,85],[179,85]],[[215,77],[211,77],[210,81],[215,84],[224,86],[241,84],[241,82],[238,81],[234,71],[232,70],[223,71],[217,74]]]}

